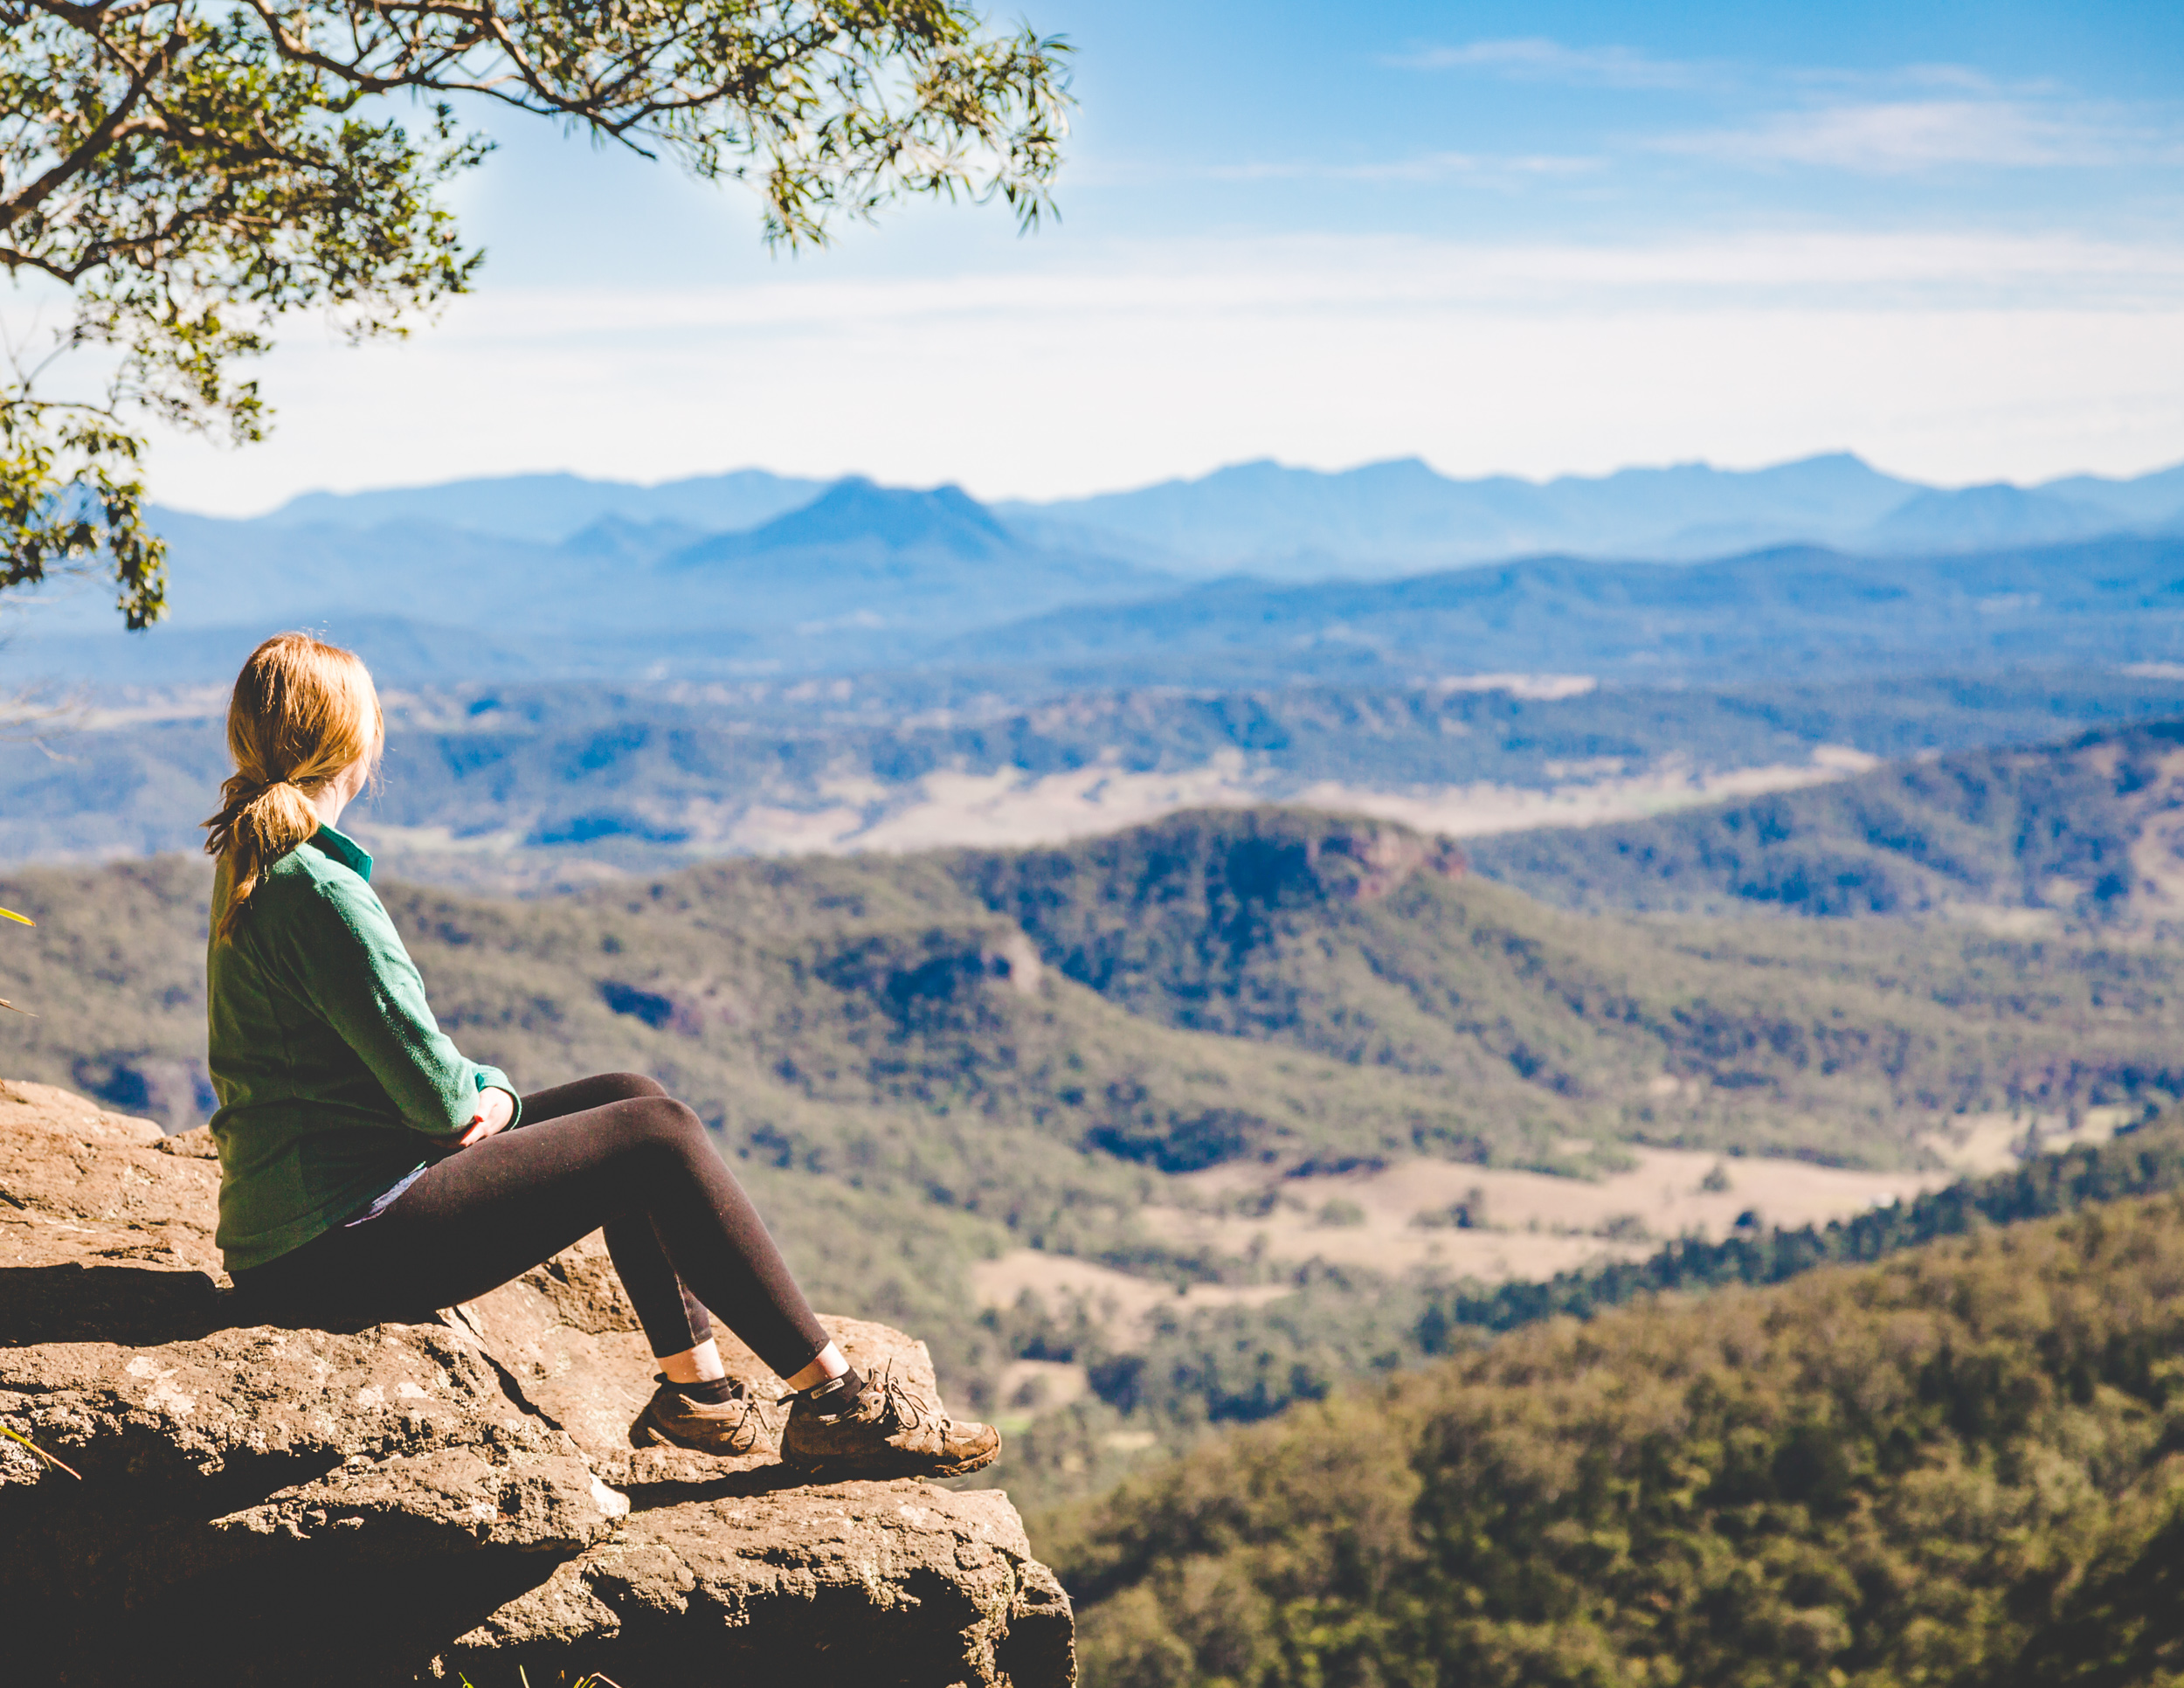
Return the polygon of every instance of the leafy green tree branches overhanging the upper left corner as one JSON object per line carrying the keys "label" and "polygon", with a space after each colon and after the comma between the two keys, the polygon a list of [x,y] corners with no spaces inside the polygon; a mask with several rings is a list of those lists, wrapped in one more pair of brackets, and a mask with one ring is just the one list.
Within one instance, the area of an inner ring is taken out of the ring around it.
{"label": "leafy green tree branches overhanging the upper left corner", "polygon": [[[786,245],[917,197],[1035,225],[1068,111],[1068,48],[961,0],[0,0],[0,266],[68,299],[7,341],[0,590],[109,570],[129,627],[164,605],[142,428],[256,441],[238,365],[280,317],[363,341],[470,286],[456,100],[749,181]],[[68,354],[96,380],[55,391]]]}

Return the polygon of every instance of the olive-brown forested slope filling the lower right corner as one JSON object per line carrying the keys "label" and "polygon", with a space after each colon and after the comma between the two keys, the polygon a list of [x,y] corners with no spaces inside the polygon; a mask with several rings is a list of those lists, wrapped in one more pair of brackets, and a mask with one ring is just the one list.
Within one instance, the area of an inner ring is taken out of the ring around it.
{"label": "olive-brown forested slope filling the lower right corner", "polygon": [[2184,1199],[1551,1323],[1055,1520],[1088,1688],[2160,1684]]}

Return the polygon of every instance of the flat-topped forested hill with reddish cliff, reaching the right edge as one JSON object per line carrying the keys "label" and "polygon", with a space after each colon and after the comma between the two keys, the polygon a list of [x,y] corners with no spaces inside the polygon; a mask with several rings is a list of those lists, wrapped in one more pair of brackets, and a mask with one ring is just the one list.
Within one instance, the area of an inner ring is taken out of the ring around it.
{"label": "flat-topped forested hill with reddish cliff, reaching the right edge", "polygon": [[2177,1070],[2153,1033],[2092,1077],[2112,1037],[2184,1007],[2167,952],[1566,919],[1450,878],[1446,845],[1385,823],[1173,815],[1064,849],[963,852],[950,871],[1136,1015],[1487,1107],[1518,1074],[1520,1118],[1655,1142],[1870,1157],[1907,1109],[2121,1101]]}

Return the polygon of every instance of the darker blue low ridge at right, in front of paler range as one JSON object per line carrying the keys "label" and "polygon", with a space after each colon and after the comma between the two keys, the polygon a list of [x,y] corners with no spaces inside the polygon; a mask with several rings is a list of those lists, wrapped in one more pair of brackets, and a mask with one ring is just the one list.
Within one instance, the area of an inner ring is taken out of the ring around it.
{"label": "darker blue low ridge at right, in front of paler range", "polygon": [[1787,677],[2184,657],[2184,542],[1946,557],[1778,548],[1717,563],[1535,557],[1400,581],[1230,579],[957,640],[954,659],[1203,673],[1385,668]]}

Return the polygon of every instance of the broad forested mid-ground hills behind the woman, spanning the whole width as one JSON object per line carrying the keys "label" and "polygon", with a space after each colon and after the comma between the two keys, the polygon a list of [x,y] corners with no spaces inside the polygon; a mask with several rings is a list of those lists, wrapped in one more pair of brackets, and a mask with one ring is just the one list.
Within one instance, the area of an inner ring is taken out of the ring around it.
{"label": "broad forested mid-ground hills behind the woman, spanning the whole width", "polygon": [[[39,922],[9,928],[7,996],[39,1018],[0,1024],[0,1070],[199,1118],[205,891],[181,858],[0,882]],[[533,902],[384,895],[465,1050],[524,1085],[657,1072],[819,1293],[915,1326],[974,1402],[1053,1334],[981,1321],[965,1275],[1005,1249],[1304,1282],[1308,1323],[1398,1306],[1369,1273],[1179,1247],[1147,1214],[1199,1205],[1201,1168],[1581,1175],[1623,1142],[1904,1166],[1955,1109],[2184,1092],[2164,946],[1586,919],[1444,841],[1293,810]]]}

